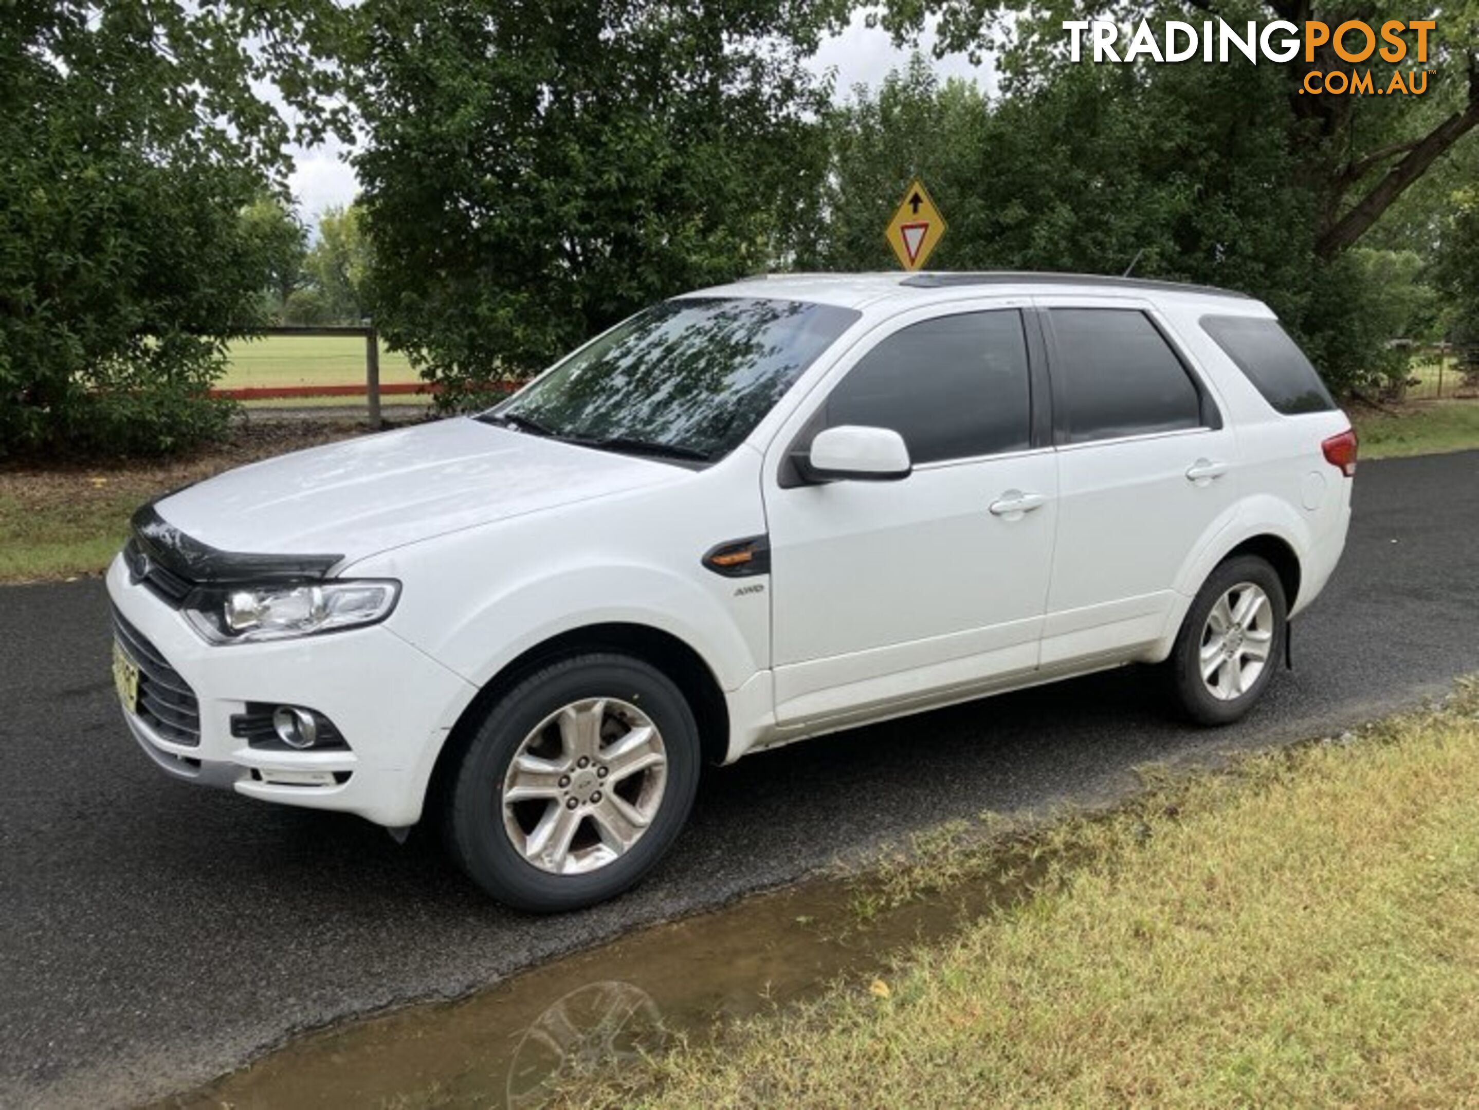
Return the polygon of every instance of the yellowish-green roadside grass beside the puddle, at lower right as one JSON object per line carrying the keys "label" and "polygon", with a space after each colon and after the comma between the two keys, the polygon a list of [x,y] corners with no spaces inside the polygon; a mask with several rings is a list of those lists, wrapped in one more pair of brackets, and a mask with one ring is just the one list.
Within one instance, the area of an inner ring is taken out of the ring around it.
{"label": "yellowish-green roadside grass beside the puddle, at lower right", "polygon": [[1161,776],[1131,808],[1044,834],[1025,902],[568,1098],[1472,1106],[1476,792],[1473,686],[1358,736]]}

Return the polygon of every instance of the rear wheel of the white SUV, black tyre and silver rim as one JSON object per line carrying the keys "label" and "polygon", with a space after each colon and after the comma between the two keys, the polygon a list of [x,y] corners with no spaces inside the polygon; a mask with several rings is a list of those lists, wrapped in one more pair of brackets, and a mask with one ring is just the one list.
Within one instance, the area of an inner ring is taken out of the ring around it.
{"label": "rear wheel of the white SUV, black tyre and silver rim", "polygon": [[1284,584],[1263,559],[1236,556],[1213,571],[1165,662],[1182,711],[1229,724],[1251,709],[1284,658],[1287,613]]}

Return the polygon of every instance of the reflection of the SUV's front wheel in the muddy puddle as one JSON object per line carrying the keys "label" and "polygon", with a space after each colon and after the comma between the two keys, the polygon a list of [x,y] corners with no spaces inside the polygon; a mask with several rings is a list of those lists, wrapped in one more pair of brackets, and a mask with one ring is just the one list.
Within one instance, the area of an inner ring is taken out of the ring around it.
{"label": "reflection of the SUV's front wheel in the muddy puddle", "polygon": [[550,1005],[524,1030],[509,1064],[509,1110],[544,1106],[580,1076],[617,1072],[663,1048],[657,1004],[630,983],[589,983]]}

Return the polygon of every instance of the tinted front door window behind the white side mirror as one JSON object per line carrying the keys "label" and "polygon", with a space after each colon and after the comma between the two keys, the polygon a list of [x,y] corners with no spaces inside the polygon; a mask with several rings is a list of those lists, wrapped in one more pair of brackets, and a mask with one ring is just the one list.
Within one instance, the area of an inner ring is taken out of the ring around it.
{"label": "tinted front door window behind the white side mirror", "polygon": [[864,355],[827,399],[827,424],[890,427],[914,463],[1021,451],[1029,390],[1021,312],[941,316]]}

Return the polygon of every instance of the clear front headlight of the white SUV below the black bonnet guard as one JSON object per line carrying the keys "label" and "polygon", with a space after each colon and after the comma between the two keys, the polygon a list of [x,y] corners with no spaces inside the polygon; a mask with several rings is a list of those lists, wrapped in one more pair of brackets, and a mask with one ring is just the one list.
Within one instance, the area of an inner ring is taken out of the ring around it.
{"label": "clear front headlight of the white SUV below the black bonnet guard", "polygon": [[383,621],[399,596],[389,579],[219,587],[191,597],[185,615],[211,643],[288,640]]}

